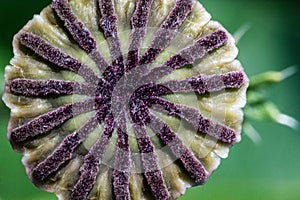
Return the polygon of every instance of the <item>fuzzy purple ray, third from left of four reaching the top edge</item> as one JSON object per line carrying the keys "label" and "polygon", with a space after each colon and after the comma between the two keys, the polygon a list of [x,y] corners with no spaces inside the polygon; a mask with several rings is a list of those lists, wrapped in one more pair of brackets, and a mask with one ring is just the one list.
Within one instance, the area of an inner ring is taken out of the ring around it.
{"label": "fuzzy purple ray, third from left of four reaching the top edge", "polygon": [[136,9],[131,18],[132,32],[130,35],[126,71],[135,68],[139,63],[139,49],[147,32],[152,3],[153,0],[140,0],[136,3]]}

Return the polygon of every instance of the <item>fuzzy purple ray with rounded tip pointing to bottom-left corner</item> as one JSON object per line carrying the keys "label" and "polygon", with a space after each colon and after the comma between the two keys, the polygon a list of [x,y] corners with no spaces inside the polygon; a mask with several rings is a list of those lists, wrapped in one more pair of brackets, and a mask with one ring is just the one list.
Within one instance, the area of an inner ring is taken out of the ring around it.
{"label": "fuzzy purple ray with rounded tip pointing to bottom-left corner", "polygon": [[98,116],[95,115],[80,127],[78,131],[68,135],[50,156],[33,169],[33,180],[38,182],[46,180],[52,173],[56,172],[59,167],[69,161],[78,145],[82,143],[100,123],[101,121],[99,121]]}

